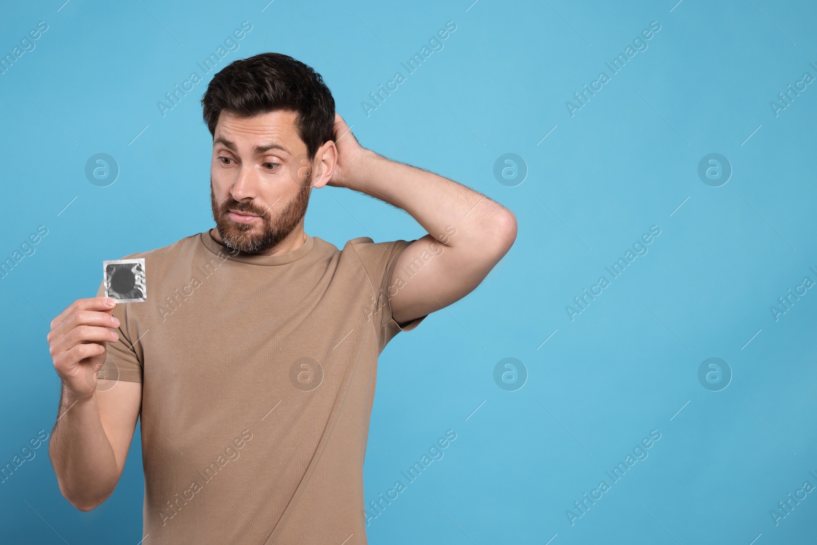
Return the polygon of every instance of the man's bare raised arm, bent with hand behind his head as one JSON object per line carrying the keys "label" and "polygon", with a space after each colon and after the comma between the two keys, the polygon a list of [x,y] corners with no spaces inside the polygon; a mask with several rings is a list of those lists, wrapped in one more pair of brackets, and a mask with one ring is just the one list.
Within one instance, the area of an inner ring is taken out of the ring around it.
{"label": "man's bare raised arm, bent with hand behind his head", "polygon": [[[400,253],[392,272],[391,316],[398,324],[471,293],[511,248],[516,217],[507,208],[465,185],[360,147],[337,114],[335,134],[341,136],[328,185],[402,208],[428,232]],[[405,278],[403,270],[413,275]]]}

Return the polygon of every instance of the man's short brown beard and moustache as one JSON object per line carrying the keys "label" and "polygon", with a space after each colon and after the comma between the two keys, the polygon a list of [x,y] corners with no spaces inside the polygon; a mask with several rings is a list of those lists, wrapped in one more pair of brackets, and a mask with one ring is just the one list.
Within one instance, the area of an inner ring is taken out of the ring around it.
{"label": "man's short brown beard and moustache", "polygon": [[[277,217],[273,217],[270,206],[266,210],[258,208],[252,201],[239,203],[228,196],[223,203],[216,202],[216,194],[212,190],[210,178],[210,204],[212,218],[216,221],[216,229],[221,235],[225,247],[230,250],[239,250],[247,253],[266,252],[275,248],[285,239],[292,230],[306,216],[306,206],[309,204],[309,195],[312,189],[311,174],[301,182],[295,198],[289,201]],[[236,212],[247,212],[261,217],[261,227],[246,223],[238,223],[230,219],[230,208]]]}

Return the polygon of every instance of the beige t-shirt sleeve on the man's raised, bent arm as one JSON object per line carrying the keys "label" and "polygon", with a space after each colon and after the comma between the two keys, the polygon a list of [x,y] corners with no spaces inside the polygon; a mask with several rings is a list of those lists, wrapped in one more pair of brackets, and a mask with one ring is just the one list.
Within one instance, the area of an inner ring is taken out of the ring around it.
{"label": "beige t-shirt sleeve on the man's raised, bent arm", "polygon": [[364,270],[371,280],[373,295],[368,304],[367,314],[372,319],[378,332],[380,350],[401,331],[411,331],[426,319],[427,315],[415,318],[406,324],[398,324],[391,317],[391,301],[389,293],[394,293],[391,287],[391,273],[395,269],[397,259],[405,248],[414,240],[392,240],[391,242],[373,242],[369,237],[359,237],[349,241],[350,248],[363,263]]}

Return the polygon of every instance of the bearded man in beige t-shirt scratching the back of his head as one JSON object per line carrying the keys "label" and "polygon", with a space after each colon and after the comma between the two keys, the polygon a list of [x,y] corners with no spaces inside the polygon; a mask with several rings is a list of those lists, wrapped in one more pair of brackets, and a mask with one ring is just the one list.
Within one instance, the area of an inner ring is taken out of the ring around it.
{"label": "bearded man in beige t-shirt scratching the back of his head", "polygon": [[[506,208],[362,148],[319,74],[236,60],[203,96],[216,228],[145,258],[147,302],[78,299],[51,322],[60,491],[114,491],[137,418],[150,543],[366,543],[377,356],[470,293],[516,238]],[[339,251],[306,235],[312,188],[364,192],[428,235]],[[183,203],[179,203],[183,205]]]}

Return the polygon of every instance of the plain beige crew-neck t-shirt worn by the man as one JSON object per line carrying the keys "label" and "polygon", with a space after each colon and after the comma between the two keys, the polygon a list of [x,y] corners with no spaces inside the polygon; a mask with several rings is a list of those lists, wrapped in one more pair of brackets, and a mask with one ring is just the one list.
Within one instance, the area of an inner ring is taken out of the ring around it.
{"label": "plain beige crew-neck t-shirt worn by the man", "polygon": [[100,371],[142,382],[144,543],[367,543],[377,356],[425,319],[401,328],[388,301],[413,241],[254,256],[211,231],[126,256],[148,300],[116,306]]}

